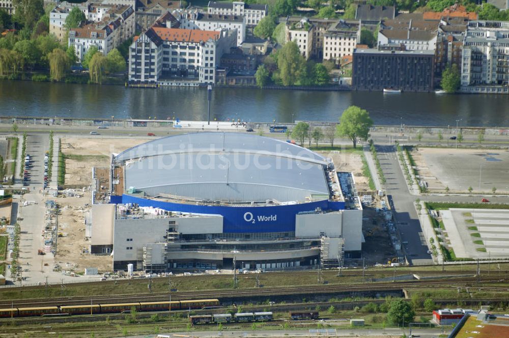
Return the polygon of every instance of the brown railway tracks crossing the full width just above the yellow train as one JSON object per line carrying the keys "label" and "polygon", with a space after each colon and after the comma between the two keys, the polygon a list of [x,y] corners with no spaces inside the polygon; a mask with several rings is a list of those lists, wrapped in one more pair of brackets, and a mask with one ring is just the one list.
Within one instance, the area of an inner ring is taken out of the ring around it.
{"label": "brown railway tracks crossing the full width just above the yellow train", "polygon": [[[313,286],[291,286],[260,289],[235,289],[235,290],[205,290],[205,291],[186,291],[172,293],[172,300],[185,299],[203,299],[219,298],[220,300],[233,300],[235,298],[262,297],[274,295],[299,295],[316,293],[342,293],[342,292],[363,292],[363,291],[392,291],[408,288],[422,288],[432,286],[441,287],[475,287],[477,283],[498,283],[505,281],[505,275],[492,276],[474,276],[458,277],[448,279],[426,279],[426,280],[408,280],[395,282],[375,282],[367,284],[345,284],[345,285],[313,285]],[[93,297],[62,297],[39,299],[17,299],[11,301],[0,301],[0,308],[9,307],[36,307],[36,306],[58,306],[58,305],[83,305],[83,304],[107,304],[120,302],[139,302],[139,301],[165,301],[168,300],[167,292],[152,294],[124,294],[124,295],[100,295]]]}

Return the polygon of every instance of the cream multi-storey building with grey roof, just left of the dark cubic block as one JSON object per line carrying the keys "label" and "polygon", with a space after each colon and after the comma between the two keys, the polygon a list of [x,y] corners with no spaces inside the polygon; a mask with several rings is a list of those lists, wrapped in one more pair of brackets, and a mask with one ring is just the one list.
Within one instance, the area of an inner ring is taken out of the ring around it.
{"label": "cream multi-storey building with grey roof, just left of the dark cubic block", "polygon": [[324,34],[323,60],[339,62],[347,55],[353,55],[357,42],[360,41],[360,25],[340,20],[330,25]]}

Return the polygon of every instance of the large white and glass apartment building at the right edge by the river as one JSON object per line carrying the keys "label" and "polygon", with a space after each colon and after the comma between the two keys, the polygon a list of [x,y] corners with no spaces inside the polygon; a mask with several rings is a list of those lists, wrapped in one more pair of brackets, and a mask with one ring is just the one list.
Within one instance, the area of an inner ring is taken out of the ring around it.
{"label": "large white and glass apartment building at the right edge by the river", "polygon": [[509,22],[470,21],[462,59],[462,87],[506,87],[509,84]]}

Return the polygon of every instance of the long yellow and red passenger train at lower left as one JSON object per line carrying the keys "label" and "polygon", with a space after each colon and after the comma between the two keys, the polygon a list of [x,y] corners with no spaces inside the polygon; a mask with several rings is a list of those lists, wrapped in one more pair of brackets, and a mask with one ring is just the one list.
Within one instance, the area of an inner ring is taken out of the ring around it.
{"label": "long yellow and red passenger train at lower left", "polygon": [[219,306],[218,299],[195,299],[160,302],[133,302],[118,304],[61,305],[42,307],[0,308],[0,318],[66,316],[126,313],[136,311],[177,311]]}

